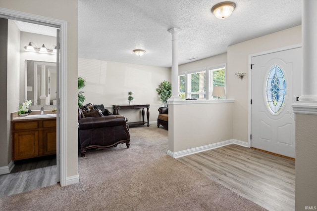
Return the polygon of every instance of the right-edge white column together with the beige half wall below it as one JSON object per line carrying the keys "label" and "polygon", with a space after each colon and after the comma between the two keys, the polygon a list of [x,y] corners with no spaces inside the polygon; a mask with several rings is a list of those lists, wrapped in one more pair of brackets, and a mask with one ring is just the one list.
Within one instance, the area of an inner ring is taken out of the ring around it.
{"label": "right-edge white column together with the beige half wall below it", "polygon": [[317,208],[317,0],[302,0],[302,96],[293,104],[295,210]]}

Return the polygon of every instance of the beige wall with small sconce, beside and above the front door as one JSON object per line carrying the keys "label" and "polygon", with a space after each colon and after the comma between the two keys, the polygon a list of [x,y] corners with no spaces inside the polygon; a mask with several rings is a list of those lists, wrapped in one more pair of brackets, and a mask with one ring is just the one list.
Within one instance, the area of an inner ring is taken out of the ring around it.
{"label": "beige wall with small sconce, beside and above the front door", "polygon": [[235,73],[248,73],[250,54],[302,43],[302,28],[290,29],[269,34],[260,38],[241,42],[228,47],[227,98],[234,99],[233,138],[248,141],[248,74],[241,81]]}

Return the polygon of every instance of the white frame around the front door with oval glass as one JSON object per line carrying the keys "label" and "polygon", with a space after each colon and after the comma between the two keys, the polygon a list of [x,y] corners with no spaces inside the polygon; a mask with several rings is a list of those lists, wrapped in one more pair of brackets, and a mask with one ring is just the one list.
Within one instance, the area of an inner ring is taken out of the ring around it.
{"label": "white frame around the front door with oval glass", "polygon": [[[270,54],[270,53],[276,53],[276,52],[280,52],[280,51],[285,51],[285,50],[291,50],[294,48],[299,48],[302,47],[302,44],[295,44],[295,45],[288,45],[285,47],[281,47],[281,48],[276,48],[276,49],[272,49],[272,50],[267,50],[267,51],[262,51],[259,53],[254,53],[254,54],[250,54],[249,55],[249,59],[248,59],[248,78],[249,78],[249,90],[248,90],[248,148],[251,148],[251,129],[252,129],[252,105],[251,105],[251,99],[252,99],[252,69],[251,69],[251,65],[252,65],[252,57],[255,56],[262,56],[265,54]],[[296,146],[295,146],[296,147]]]}

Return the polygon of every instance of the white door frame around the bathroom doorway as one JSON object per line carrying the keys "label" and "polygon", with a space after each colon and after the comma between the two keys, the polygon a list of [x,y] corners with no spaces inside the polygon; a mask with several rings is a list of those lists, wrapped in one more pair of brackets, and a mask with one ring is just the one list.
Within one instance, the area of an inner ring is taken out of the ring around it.
{"label": "white door frame around the bathroom doorway", "polygon": [[[44,17],[40,15],[15,11],[6,8],[0,8],[0,18],[6,18],[11,20],[24,21],[29,23],[35,23],[45,26],[51,26],[60,29],[60,51],[59,51],[59,66],[60,66],[60,76],[59,76],[59,98],[56,97],[57,105],[59,105],[59,155],[56,154],[56,161],[59,160],[60,164],[60,186],[67,185],[67,175],[66,175],[66,104],[67,98],[66,96],[66,52],[67,52],[67,41],[66,41],[66,31],[67,31],[67,22],[63,20],[58,20],[54,18]],[[57,109],[58,111],[58,109]],[[58,139],[58,137],[57,137]],[[58,140],[56,140],[58,141]],[[57,145],[58,146],[58,145]],[[58,149],[57,149],[58,152]],[[58,172],[58,170],[57,170]]]}

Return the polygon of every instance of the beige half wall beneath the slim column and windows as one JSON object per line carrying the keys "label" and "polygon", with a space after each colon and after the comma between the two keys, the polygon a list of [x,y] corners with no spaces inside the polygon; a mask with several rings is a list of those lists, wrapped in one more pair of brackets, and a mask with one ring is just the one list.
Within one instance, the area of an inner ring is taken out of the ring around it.
{"label": "beige half wall beneath the slim column and windows", "polygon": [[174,153],[232,139],[233,102],[168,104],[168,150]]}

